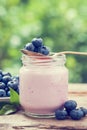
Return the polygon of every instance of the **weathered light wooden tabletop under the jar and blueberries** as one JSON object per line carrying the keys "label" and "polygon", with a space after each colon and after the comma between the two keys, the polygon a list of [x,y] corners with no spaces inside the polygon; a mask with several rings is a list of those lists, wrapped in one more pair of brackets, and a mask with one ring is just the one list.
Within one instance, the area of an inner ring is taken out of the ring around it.
{"label": "weathered light wooden tabletop under the jar and blueberries", "polygon": [[[69,84],[69,99],[87,108],[87,84]],[[21,112],[0,116],[0,130],[87,130],[87,116],[79,121],[56,119],[34,119]]]}

